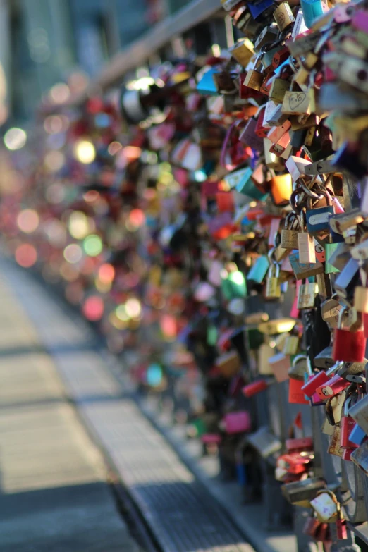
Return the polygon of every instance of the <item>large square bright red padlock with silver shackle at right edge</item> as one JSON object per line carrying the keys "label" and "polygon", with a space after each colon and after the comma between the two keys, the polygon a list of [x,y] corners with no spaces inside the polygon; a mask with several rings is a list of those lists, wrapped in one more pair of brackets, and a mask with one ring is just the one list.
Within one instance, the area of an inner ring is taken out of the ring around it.
{"label": "large square bright red padlock with silver shackle at right edge", "polygon": [[333,333],[333,360],[344,362],[363,362],[366,338],[364,331],[349,331],[343,328],[343,315],[347,307],[343,307],[338,315],[338,327]]}

